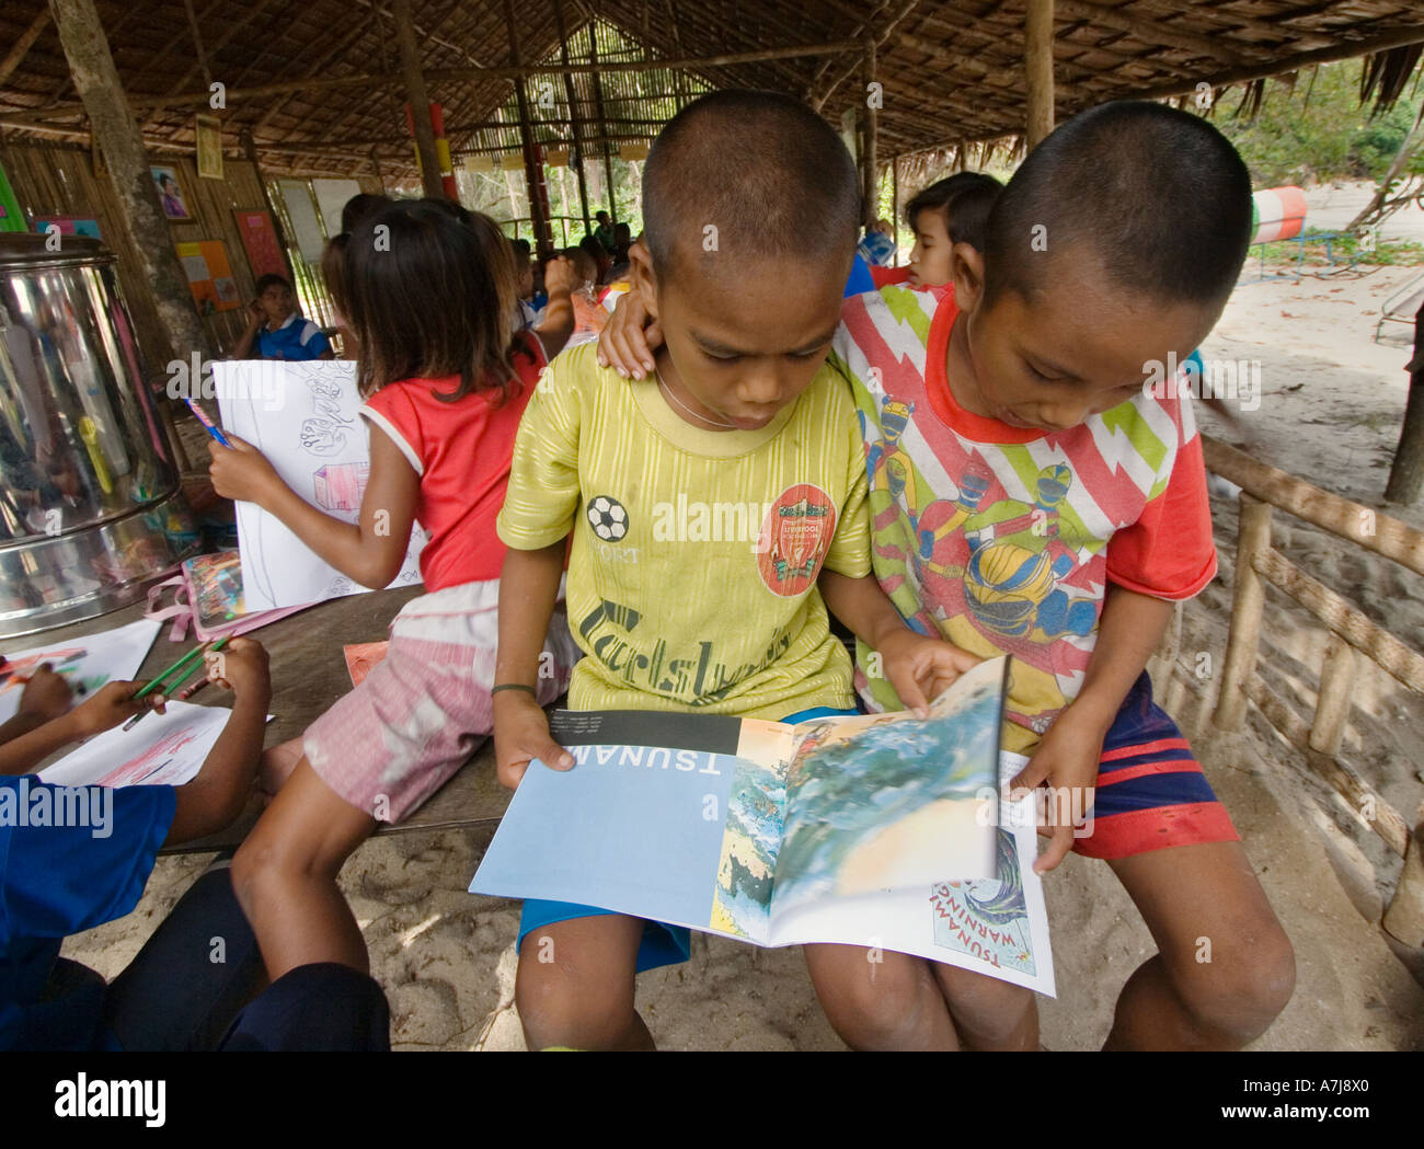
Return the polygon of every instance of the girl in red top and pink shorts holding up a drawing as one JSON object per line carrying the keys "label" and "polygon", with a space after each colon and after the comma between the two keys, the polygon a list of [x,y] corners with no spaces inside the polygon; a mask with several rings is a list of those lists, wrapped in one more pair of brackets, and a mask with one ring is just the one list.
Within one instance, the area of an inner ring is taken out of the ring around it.
{"label": "girl in red top and pink shorts holding up a drawing", "polygon": [[[336,874],[377,822],[420,806],[493,726],[504,557],[494,517],[547,360],[537,337],[511,342],[508,243],[481,235],[498,229],[440,199],[390,204],[352,232],[346,275],[333,286],[357,340],[370,424],[359,523],[306,503],[251,444],[214,444],[219,494],[258,503],[366,587],[384,587],[400,570],[413,523],[429,534],[420,554],[427,594],[392,622],[384,661],[308,729],[303,756],[234,860],[273,980],[320,961],[366,971]],[[577,656],[562,615],[540,645],[548,659],[538,699],[553,702]]]}

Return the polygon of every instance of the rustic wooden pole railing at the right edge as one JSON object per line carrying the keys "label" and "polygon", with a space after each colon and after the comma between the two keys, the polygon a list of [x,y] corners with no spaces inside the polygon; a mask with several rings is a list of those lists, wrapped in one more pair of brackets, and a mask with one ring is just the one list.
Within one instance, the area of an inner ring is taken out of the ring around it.
{"label": "rustic wooden pole railing at the right edge", "polygon": [[[1366,655],[1420,695],[1424,695],[1424,655],[1274,550],[1270,528],[1279,508],[1421,575],[1424,531],[1324,491],[1209,436],[1202,436],[1202,447],[1208,468],[1242,488],[1230,635],[1212,722],[1223,730],[1239,730],[1247,702],[1255,702],[1266,720],[1300,752],[1306,766],[1334,787],[1394,853],[1405,857],[1384,927],[1400,941],[1424,945],[1424,860],[1420,857],[1424,843],[1420,831],[1411,833],[1400,812],[1340,757],[1358,655]],[[1267,582],[1330,631],[1310,722],[1256,673]]]}

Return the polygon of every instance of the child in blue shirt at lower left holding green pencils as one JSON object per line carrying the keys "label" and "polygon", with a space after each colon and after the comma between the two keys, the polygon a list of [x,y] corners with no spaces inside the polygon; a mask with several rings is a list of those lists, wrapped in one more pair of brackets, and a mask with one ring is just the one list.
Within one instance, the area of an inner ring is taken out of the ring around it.
{"label": "child in blue shirt at lower left holding green pencils", "polygon": [[0,732],[0,1049],[389,1048],[380,988],[345,967],[295,970],[242,1008],[262,960],[225,860],[114,982],[60,957],[67,935],[138,904],[159,849],[242,812],[271,699],[266,652],[232,639],[209,678],[232,689],[232,716],[184,786],[51,786],[26,773],[151,705],[134,701],[140,683],[110,682],[68,709],[68,685],[47,666],[26,686]]}

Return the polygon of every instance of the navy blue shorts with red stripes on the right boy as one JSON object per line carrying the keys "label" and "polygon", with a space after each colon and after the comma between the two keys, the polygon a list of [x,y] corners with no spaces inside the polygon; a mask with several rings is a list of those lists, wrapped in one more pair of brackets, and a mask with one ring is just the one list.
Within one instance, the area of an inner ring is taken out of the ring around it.
{"label": "navy blue shorts with red stripes on the right boy", "polygon": [[1102,743],[1085,857],[1119,859],[1206,841],[1240,841],[1192,747],[1152,701],[1146,672],[1122,701]]}

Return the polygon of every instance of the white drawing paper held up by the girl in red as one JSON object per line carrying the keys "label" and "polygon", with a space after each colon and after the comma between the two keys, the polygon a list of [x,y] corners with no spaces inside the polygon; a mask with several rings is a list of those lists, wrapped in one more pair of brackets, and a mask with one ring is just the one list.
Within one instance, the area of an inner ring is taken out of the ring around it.
{"label": "white drawing paper held up by the girl in red", "polygon": [[[262,451],[283,481],[330,515],[355,523],[370,474],[370,439],[357,414],[356,364],[229,360],[212,364],[224,429]],[[420,582],[424,532],[392,587]],[[275,515],[238,503],[242,592],[249,611],[302,607],[369,589],[323,562]]]}

